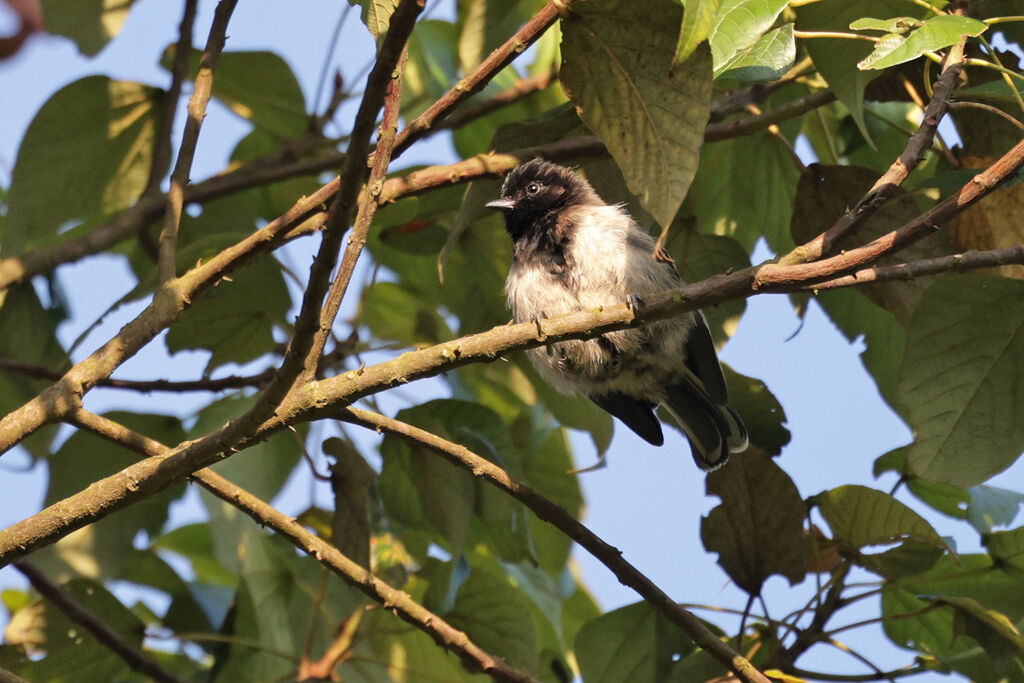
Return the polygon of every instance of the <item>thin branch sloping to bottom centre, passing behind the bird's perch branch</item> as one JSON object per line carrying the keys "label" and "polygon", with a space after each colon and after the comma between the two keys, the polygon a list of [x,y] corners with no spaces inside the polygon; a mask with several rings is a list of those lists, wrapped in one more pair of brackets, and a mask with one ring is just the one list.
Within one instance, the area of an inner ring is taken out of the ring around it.
{"label": "thin branch sloping to bottom centre, passing behind the bird's perch branch", "polygon": [[[96,436],[143,456],[154,457],[169,451],[157,440],[85,410],[75,413],[74,422]],[[317,562],[338,574],[346,584],[420,629],[442,647],[455,650],[463,661],[473,669],[478,669],[499,681],[538,683],[537,679],[508,666],[501,657],[488,653],[471,641],[464,632],[413,600],[407,593],[384,583],[335,546],[306,530],[294,518],[278,511],[245,488],[209,469],[196,472],[193,478],[217,498],[252,517],[260,526],[272,528],[296,548],[311,555]],[[23,564],[17,563],[16,566],[22,569]],[[168,683],[174,683],[173,679]]]}

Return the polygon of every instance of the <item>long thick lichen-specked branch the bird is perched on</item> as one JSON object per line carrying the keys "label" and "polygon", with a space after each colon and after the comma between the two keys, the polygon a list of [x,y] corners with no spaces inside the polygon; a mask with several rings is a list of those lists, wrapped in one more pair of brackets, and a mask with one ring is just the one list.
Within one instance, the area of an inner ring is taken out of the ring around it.
{"label": "long thick lichen-specked branch the bird is perched on", "polygon": [[[226,458],[230,452],[263,440],[288,425],[321,418],[337,418],[341,408],[388,387],[433,377],[469,362],[494,360],[515,350],[564,339],[592,339],[606,332],[680,315],[723,301],[745,298],[757,293],[798,291],[841,276],[929,233],[939,222],[948,220],[991,191],[1022,164],[1024,140],[933,211],[874,243],[840,256],[793,266],[752,266],[737,272],[715,275],[678,290],[651,296],[645,301],[647,305],[639,311],[634,311],[623,303],[545,319],[542,321],[540,330],[532,323],[501,326],[488,332],[410,351],[366,369],[310,382],[293,391],[273,417],[258,428],[246,432],[241,440],[236,441],[234,423],[229,423],[199,441],[182,444],[166,456],[146,459],[100,479],[85,490],[9,526],[0,535],[0,566],[101,519],[115,510],[182,481],[191,472]],[[45,392],[44,395],[49,396]],[[59,397],[59,394],[56,395]],[[29,405],[35,409],[37,402],[30,402]],[[45,408],[43,404],[41,410]],[[68,412],[75,408],[71,405],[63,410]],[[25,410],[27,409],[20,409]],[[0,436],[3,434],[3,422],[0,422]]]}

